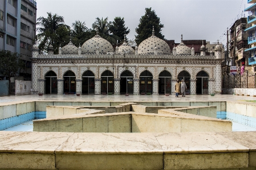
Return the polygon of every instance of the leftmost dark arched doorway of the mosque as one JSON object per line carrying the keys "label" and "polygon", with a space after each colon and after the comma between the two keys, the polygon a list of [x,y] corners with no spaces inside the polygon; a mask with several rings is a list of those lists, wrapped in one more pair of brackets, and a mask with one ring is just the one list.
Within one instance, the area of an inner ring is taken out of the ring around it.
{"label": "leftmost dark arched doorway of the mosque", "polygon": [[50,71],[46,74],[46,94],[57,94],[58,93],[58,81],[55,72]]}

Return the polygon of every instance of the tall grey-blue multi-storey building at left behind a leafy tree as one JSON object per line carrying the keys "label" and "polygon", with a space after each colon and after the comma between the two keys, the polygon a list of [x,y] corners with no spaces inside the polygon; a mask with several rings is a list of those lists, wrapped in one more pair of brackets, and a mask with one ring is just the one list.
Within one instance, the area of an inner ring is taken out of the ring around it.
{"label": "tall grey-blue multi-storey building at left behind a leafy tree", "polygon": [[32,42],[35,38],[36,2],[34,0],[0,1],[0,50],[21,54],[26,69],[19,76],[31,80]]}

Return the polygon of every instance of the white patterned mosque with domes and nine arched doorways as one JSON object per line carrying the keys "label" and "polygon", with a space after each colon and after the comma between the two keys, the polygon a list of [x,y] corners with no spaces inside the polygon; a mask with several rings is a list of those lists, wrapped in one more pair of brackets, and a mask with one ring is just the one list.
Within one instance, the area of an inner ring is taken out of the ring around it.
{"label": "white patterned mosque with domes and nine arched doorways", "polygon": [[54,55],[39,54],[32,48],[32,90],[42,94],[175,94],[177,80],[184,80],[188,94],[221,92],[221,51],[201,55],[181,42],[172,49],[152,36],[135,47],[127,40],[113,49],[111,43],[95,35],[82,47],[70,43]]}

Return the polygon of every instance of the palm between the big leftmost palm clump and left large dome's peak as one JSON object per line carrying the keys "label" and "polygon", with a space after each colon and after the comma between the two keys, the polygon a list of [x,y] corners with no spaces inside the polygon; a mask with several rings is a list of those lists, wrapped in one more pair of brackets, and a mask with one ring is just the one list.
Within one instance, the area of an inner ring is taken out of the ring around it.
{"label": "palm between the big leftmost palm clump and left large dome's peak", "polygon": [[78,45],[82,45],[84,42],[86,42],[88,39],[92,38],[92,36],[95,35],[95,32],[91,29],[88,29],[86,27],[85,22],[80,22],[80,20],[76,20],[74,23],[72,23],[72,43],[75,44],[77,47]]}

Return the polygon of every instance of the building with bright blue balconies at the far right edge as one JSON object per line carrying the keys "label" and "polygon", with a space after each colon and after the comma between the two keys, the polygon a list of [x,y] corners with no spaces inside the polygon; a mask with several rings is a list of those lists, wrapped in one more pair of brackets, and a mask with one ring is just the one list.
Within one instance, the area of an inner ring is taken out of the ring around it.
{"label": "building with bright blue balconies at the far right edge", "polygon": [[249,48],[245,51],[249,52],[248,65],[251,66],[251,71],[256,72],[256,0],[247,0],[247,3],[252,5],[245,9],[249,12],[247,16],[248,28],[245,30],[248,34]]}

